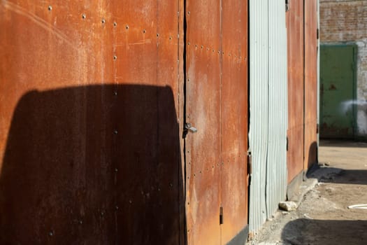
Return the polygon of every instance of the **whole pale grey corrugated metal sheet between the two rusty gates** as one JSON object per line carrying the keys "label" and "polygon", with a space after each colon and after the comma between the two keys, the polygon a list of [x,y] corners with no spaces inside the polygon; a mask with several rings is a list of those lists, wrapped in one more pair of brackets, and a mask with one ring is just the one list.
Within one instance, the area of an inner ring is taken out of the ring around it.
{"label": "whole pale grey corrugated metal sheet between the two rusty gates", "polygon": [[285,200],[287,113],[285,2],[250,0],[250,230]]}

